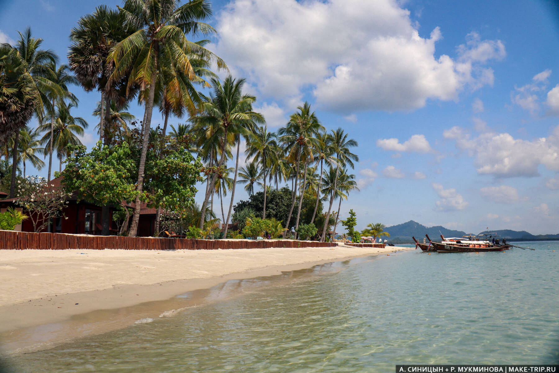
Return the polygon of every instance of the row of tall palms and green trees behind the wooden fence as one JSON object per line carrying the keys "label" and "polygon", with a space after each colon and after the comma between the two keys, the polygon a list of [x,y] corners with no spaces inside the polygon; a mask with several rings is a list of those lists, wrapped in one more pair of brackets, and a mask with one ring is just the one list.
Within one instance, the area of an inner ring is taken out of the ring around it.
{"label": "row of tall palms and green trees behind the wooden fence", "polygon": [[[49,158],[50,181],[56,154],[59,172],[66,163],[61,175],[67,187],[102,206],[103,234],[108,234],[109,206],[121,205],[121,234],[135,236],[142,202],[157,209],[156,232],[173,214],[190,216],[188,224],[202,230],[215,221],[217,196],[227,237],[237,185],[250,196],[262,188],[258,214],[266,220],[271,186],[277,191],[285,183],[290,206],[276,223],[284,232],[297,232],[309,196],[314,207],[304,223],[324,221],[317,237],[325,240],[334,215],[333,225],[338,225],[342,200],[357,189],[349,171],[359,160],[353,153],[357,141],[341,128],[327,131],[307,102],[285,126],[269,130],[264,116],[253,110],[257,98],[243,93],[245,79],[229,75],[221,81],[212,70],[228,72],[225,62],[206,49],[209,40],[197,40],[215,34],[206,23],[211,16],[207,0],[182,5],[125,0],[117,10],[99,6],[70,31],[68,64],[59,65],[54,51],[41,49],[43,40],[32,37],[30,29],[15,45],[2,44],[0,127],[5,130],[0,145],[5,162],[12,163],[10,196],[16,195],[18,170],[25,177],[26,161],[37,169],[46,166],[39,155]],[[78,105],[72,85],[100,97],[93,111],[99,117],[99,142],[89,153],[79,140],[88,124],[72,115]],[[144,107],[141,119],[128,112],[132,102]],[[163,125],[152,129],[154,109]],[[29,128],[33,116],[39,121],[36,129]],[[168,133],[170,117],[185,121]],[[240,154],[241,143],[245,154]],[[239,167],[243,157],[246,164]],[[228,167],[228,161],[235,166]],[[200,181],[205,193],[196,206],[194,185]],[[338,213],[333,211],[336,199]],[[328,202],[326,213],[319,209],[323,202]]]}

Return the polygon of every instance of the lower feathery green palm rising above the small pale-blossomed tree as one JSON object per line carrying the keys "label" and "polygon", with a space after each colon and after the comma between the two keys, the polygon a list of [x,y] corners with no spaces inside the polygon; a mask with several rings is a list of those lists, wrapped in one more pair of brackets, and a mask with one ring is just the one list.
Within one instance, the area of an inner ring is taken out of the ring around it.
{"label": "lower feathery green palm rising above the small pale-blossomed tree", "polygon": [[[75,107],[72,103],[66,104],[59,102],[56,104],[56,115],[54,123],[45,122],[39,126],[39,131],[45,131],[48,128],[54,128],[54,148],[57,157],[60,159],[60,172],[62,171],[62,160],[70,156],[68,145],[82,145],[82,141],[78,136],[83,136],[83,130],[88,127],[86,120],[82,117],[74,117],[70,114],[70,110]],[[50,133],[45,134],[40,140],[42,144],[50,141]]]}

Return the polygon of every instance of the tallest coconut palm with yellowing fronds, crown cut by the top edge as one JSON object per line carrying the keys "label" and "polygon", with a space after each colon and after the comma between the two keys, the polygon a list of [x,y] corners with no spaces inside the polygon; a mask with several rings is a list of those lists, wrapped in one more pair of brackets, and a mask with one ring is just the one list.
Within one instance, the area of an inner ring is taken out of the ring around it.
{"label": "tallest coconut palm with yellowing fronds, crown cut by the top edge", "polygon": [[[144,184],[145,159],[148,152],[148,131],[151,124],[155,89],[158,79],[164,76],[164,69],[170,65],[174,71],[195,79],[196,72],[190,62],[190,56],[217,63],[218,68],[226,68],[225,63],[203,46],[192,43],[187,34],[210,34],[215,30],[206,20],[211,17],[211,7],[207,0],[193,0],[177,7],[177,0],[125,0],[124,7],[119,10],[126,19],[126,24],[138,31],[120,41],[111,50],[108,60],[114,63],[109,83],[129,77],[129,81],[139,85],[145,97],[143,120],[143,143],[138,167],[138,197],[134,218],[129,235],[134,237],[140,219],[140,194]],[[221,166],[221,165],[220,165]],[[214,187],[215,177],[212,178]],[[207,193],[206,193],[207,194]],[[205,211],[207,198],[202,205]],[[203,226],[203,219],[200,228]]]}

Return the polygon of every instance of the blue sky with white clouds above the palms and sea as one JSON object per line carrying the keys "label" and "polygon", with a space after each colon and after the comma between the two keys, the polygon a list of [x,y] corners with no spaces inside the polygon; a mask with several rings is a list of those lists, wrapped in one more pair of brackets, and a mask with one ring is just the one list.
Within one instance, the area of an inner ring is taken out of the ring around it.
{"label": "blue sky with white clouds above the palms and sea", "polygon": [[[0,40],[16,40],[16,30],[31,26],[65,62],[70,29],[99,4],[3,0]],[[270,128],[307,100],[326,128],[342,127],[358,140],[353,173],[361,191],[341,209],[342,216],[356,211],[358,228],[413,219],[475,233],[487,226],[559,233],[554,2],[212,5],[219,35],[210,48],[235,77],[247,78]],[[84,138],[91,145],[99,95],[72,91],[80,100],[75,115],[91,125]],[[242,188],[236,194],[247,198]]]}

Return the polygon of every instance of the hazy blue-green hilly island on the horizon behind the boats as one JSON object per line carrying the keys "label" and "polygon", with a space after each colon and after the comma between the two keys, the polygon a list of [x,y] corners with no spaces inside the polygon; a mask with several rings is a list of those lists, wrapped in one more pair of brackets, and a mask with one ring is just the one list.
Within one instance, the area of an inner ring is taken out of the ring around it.
{"label": "hazy blue-green hilly island on the horizon behind the boats", "polygon": [[[413,243],[411,237],[423,241],[425,234],[428,234],[432,240],[440,239],[440,234],[444,237],[462,237],[467,234],[475,234],[474,232],[462,232],[461,230],[452,230],[444,228],[442,225],[427,227],[419,224],[417,221],[407,221],[406,223],[387,226],[385,232],[390,233],[390,243]],[[491,230],[491,233],[497,233],[500,238],[506,238],[510,241],[535,241],[535,240],[559,240],[559,234],[538,234],[534,235],[525,230],[500,229]],[[476,235],[489,233],[489,231],[479,232]]]}

